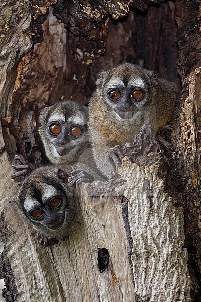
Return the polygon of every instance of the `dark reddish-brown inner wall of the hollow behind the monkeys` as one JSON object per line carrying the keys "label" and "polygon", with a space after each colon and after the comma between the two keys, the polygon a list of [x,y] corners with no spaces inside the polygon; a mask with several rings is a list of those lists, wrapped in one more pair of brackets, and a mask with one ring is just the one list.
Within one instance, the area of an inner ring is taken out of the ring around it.
{"label": "dark reddish-brown inner wall of the hollow behind the monkeys", "polygon": [[[71,2],[65,3],[70,5]],[[20,59],[14,90],[10,98],[4,97],[8,102],[2,120],[7,152],[10,157],[18,152],[35,164],[41,162],[36,131],[40,108],[60,99],[88,101],[100,70],[130,61],[155,69],[169,80],[176,80],[177,44],[172,4],[151,7],[143,16],[142,12],[130,11],[120,22],[109,19],[109,12],[105,12],[105,18],[97,18],[93,10],[90,10],[93,13],[90,19],[83,8],[85,18],[81,15],[83,19],[79,19],[77,14],[78,17],[73,19],[80,32],[77,37],[65,29],[71,29],[66,20],[62,20],[66,22],[63,24],[53,16],[58,16],[58,6],[49,8],[49,16],[42,25],[43,42],[35,44]],[[65,8],[61,8],[62,15]],[[69,14],[74,12],[73,7],[66,10]],[[119,16],[126,14],[127,11],[122,10]],[[91,29],[92,25],[88,23],[94,19],[97,24]],[[146,31],[147,39],[144,37]],[[157,39],[152,38],[155,36]],[[160,43],[156,44],[156,41]]]}

